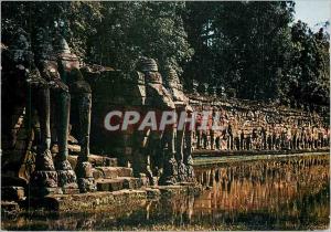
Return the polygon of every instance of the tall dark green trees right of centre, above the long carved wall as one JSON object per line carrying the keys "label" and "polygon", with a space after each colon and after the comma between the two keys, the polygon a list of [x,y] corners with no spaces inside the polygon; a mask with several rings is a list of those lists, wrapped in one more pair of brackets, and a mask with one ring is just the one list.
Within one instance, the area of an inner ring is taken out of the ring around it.
{"label": "tall dark green trees right of centre, above the long carved wall", "polygon": [[[281,83],[291,51],[288,24],[292,21],[293,6],[287,2],[201,4],[191,2],[188,6],[186,23],[191,29],[190,38],[196,39],[192,42],[196,51],[193,61],[204,61],[204,75],[192,71],[201,65],[190,66],[190,72],[204,76],[210,84],[235,88],[243,98],[267,99],[284,95]],[[201,13],[201,8],[209,10]]]}

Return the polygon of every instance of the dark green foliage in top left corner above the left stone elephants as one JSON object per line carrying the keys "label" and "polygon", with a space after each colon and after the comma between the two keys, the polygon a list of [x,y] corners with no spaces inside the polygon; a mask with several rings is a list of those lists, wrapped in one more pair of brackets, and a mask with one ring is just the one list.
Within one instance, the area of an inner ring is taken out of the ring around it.
{"label": "dark green foliage in top left corner above the left stone elephants", "polygon": [[10,34],[17,27],[34,36],[36,28],[50,27],[52,30],[54,22],[61,22],[73,51],[85,57],[88,39],[96,33],[100,19],[99,2],[1,2],[2,42],[10,43]]}

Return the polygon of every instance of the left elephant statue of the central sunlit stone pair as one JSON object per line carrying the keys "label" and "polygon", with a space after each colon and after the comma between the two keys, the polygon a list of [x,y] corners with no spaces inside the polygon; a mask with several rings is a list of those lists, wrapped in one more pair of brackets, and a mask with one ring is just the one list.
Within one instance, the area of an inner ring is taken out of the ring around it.
{"label": "left elephant statue of the central sunlit stone pair", "polygon": [[[143,57],[137,65],[138,71],[143,75],[146,82],[146,106],[149,110],[173,112],[174,104],[170,94],[164,88],[162,76],[158,72],[154,60]],[[173,122],[174,125],[175,122]],[[154,183],[153,175],[158,168],[163,167],[160,183],[170,184],[177,182],[177,161],[174,159],[174,129],[173,125],[166,127],[162,131],[150,129],[146,131],[148,141],[146,145],[146,170],[151,184]],[[167,148],[167,149],[166,149]],[[164,158],[160,157],[166,150]],[[152,171],[154,173],[152,173]]]}

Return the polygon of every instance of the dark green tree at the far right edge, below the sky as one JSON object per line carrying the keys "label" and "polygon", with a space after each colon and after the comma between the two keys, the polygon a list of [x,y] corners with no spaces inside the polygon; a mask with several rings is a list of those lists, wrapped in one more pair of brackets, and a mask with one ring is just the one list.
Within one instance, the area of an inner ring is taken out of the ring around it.
{"label": "dark green tree at the far right edge, below the sky", "polygon": [[292,25],[291,35],[297,54],[292,59],[292,70],[297,71],[293,98],[301,105],[329,105],[329,34],[323,29],[313,33],[298,21]]}

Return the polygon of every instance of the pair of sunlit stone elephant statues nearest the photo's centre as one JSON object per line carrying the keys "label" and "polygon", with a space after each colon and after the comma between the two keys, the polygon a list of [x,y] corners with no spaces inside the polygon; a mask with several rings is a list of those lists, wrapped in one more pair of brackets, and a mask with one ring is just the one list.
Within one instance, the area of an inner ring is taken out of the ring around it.
{"label": "pair of sunlit stone elephant statues nearest the photo's centre", "polygon": [[[192,107],[183,94],[183,87],[179,76],[171,67],[167,67],[167,78],[163,83],[158,65],[153,59],[142,57],[137,64],[137,75],[141,77],[146,87],[146,112],[159,110],[186,113],[190,117]],[[183,181],[194,181],[192,159],[192,131],[180,130],[177,122],[166,127],[162,131],[153,129],[145,130],[137,137],[145,139],[138,144],[136,157],[140,158],[138,171],[147,173],[151,184],[158,181],[160,184],[174,184]],[[139,162],[139,161],[138,161]]]}

